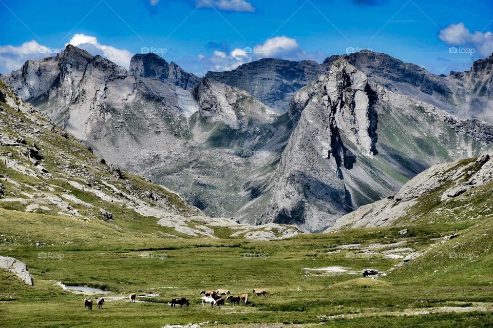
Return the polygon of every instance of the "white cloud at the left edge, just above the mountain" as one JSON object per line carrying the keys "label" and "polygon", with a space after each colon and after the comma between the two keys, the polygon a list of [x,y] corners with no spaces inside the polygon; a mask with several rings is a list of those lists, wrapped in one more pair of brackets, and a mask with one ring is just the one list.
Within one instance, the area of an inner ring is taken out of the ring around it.
{"label": "white cloud at the left edge, just above the mountain", "polygon": [[26,60],[47,57],[56,49],[51,49],[32,40],[15,47],[0,46],[0,73],[10,73],[20,69]]}

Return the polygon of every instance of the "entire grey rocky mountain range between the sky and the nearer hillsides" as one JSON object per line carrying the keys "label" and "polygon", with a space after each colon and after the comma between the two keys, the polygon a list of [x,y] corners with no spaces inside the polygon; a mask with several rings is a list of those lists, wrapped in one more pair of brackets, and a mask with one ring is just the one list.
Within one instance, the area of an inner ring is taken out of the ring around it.
{"label": "entire grey rocky mountain range between the sky and the nearer hillsides", "polygon": [[207,215],[319,232],[437,162],[492,150],[493,55],[434,75],[363,51],[199,78],[67,46],[0,76],[54,124]]}

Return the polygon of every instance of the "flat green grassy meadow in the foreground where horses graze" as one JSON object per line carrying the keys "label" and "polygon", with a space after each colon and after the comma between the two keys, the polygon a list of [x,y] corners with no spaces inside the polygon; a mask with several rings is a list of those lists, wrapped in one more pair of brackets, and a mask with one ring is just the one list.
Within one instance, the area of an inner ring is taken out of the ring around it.
{"label": "flat green grassy meadow in the foreground where horses graze", "polygon": [[[30,214],[7,210],[3,214],[10,215],[11,220],[0,223],[2,240],[6,232],[22,235],[21,230],[29,231]],[[23,216],[23,225],[12,224],[15,215]],[[34,217],[42,216],[32,215],[32,224],[39,226]],[[77,225],[73,219],[65,220]],[[443,244],[437,239],[452,233],[453,228],[437,231],[411,227],[405,236],[397,233],[400,228],[352,229],[261,242],[124,233],[112,238],[116,233],[110,229],[96,234],[86,223],[83,242],[61,243],[79,240],[79,234],[84,233],[81,229],[65,230],[62,223],[54,227],[56,233],[36,229],[41,234],[36,238],[51,238],[56,246],[33,247],[30,239],[0,245],[1,254],[27,263],[34,279],[34,286],[27,286],[13,274],[0,272],[3,327],[163,327],[203,322],[208,322],[204,327],[493,325],[490,257],[433,256],[457,249],[452,247],[461,241],[462,234]],[[482,224],[467,228],[464,235],[489,233],[489,220]],[[487,249],[486,241],[483,237],[477,248]],[[402,260],[386,258],[385,254],[423,252],[437,243],[423,255],[423,261],[409,262],[380,279],[362,278],[365,268],[387,271]],[[458,269],[447,271],[454,264]],[[334,273],[327,268],[346,271]],[[85,310],[83,299],[89,296],[65,291],[55,284],[57,281],[112,293],[91,295],[107,301],[102,310],[96,306]],[[218,288],[235,295],[249,293],[249,304],[203,308],[199,292]],[[255,297],[251,293],[254,288],[267,289],[268,297]],[[132,292],[140,302],[127,301]],[[144,297],[151,293],[153,297]],[[125,298],[110,300],[115,296]],[[170,308],[168,302],[174,297],[186,297],[191,305]]]}

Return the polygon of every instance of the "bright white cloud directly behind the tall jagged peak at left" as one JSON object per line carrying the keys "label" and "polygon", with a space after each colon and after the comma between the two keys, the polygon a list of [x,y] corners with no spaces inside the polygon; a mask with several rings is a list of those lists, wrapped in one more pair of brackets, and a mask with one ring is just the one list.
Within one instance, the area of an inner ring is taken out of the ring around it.
{"label": "bright white cloud directly behind the tall jagged peak at left", "polygon": [[130,59],[132,58],[131,52],[124,49],[117,49],[115,47],[102,45],[98,42],[98,39],[94,36],[85,34],[75,34],[69,41],[74,47],[82,48],[92,55],[101,55],[120,66],[128,69],[130,66]]}

